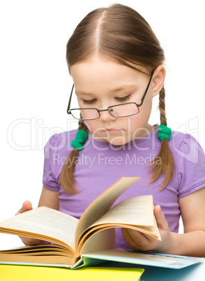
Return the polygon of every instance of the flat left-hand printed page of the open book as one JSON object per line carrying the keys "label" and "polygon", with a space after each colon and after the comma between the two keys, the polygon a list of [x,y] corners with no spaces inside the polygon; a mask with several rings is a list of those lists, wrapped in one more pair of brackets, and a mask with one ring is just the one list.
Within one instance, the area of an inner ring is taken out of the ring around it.
{"label": "flat left-hand printed page of the open book", "polygon": [[[13,230],[17,230],[28,234],[40,234],[61,240],[75,250],[74,238],[77,222],[78,219],[63,212],[40,207],[1,222],[0,232],[8,233],[10,230],[10,233],[13,233]],[[4,228],[6,228],[5,231]],[[38,239],[40,238],[38,237]]]}

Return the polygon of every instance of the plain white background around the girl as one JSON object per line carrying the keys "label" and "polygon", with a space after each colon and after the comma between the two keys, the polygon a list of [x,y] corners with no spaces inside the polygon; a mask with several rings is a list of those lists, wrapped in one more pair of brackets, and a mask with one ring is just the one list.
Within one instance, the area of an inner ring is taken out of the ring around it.
{"label": "plain white background around the girl", "polygon": [[[112,1],[0,1],[1,195],[0,221],[22,202],[38,205],[43,147],[56,131],[77,126],[66,113],[72,78],[66,43],[94,8]],[[193,134],[205,150],[204,1],[126,0],[151,25],[165,49],[167,122]],[[159,123],[158,97],[151,124]],[[0,236],[0,248],[22,245]]]}

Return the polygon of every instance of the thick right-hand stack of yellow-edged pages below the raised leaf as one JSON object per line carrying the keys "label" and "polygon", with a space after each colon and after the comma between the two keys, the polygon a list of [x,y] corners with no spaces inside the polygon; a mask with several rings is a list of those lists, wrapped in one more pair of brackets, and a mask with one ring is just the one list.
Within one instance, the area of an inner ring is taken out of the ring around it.
{"label": "thick right-hand stack of yellow-edged pages below the raised leaf", "polygon": [[[89,245],[92,245],[93,236],[91,235],[93,233],[113,227],[136,229],[161,240],[160,231],[153,215],[153,196],[136,196],[118,203],[79,236],[77,248],[80,250],[82,247],[81,253],[89,252],[88,247],[82,246],[83,243],[87,243],[86,239],[89,238]],[[100,241],[100,246],[102,247],[105,239],[100,239]],[[99,246],[98,249],[100,249]]]}

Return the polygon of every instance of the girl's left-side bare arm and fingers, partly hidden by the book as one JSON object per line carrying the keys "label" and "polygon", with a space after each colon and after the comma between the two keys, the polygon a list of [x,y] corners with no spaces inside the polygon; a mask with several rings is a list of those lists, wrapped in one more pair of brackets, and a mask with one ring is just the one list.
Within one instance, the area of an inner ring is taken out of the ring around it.
{"label": "girl's left-side bare arm and fingers, partly hidden by the book", "polygon": [[[59,192],[52,192],[49,189],[46,189],[43,187],[41,195],[40,195],[40,200],[38,203],[38,207],[45,206],[48,208],[52,208],[54,210],[59,210]],[[31,202],[25,201],[23,203],[22,208],[17,212],[16,215],[19,215],[22,212],[26,212],[28,210],[32,209]],[[25,245],[40,245],[43,243],[42,240],[38,239],[32,239],[32,238],[27,238],[27,237],[20,237],[22,239],[22,242]],[[44,242],[44,244],[46,244]]]}

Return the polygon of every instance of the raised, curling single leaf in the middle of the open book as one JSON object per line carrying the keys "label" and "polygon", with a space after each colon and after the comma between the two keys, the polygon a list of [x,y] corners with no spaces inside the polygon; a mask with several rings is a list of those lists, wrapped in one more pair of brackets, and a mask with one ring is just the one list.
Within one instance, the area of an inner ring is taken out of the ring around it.
{"label": "raised, curling single leaf in the middle of the open book", "polygon": [[91,203],[91,205],[86,208],[84,213],[79,219],[77,224],[77,229],[75,232],[75,245],[77,244],[77,239],[80,234],[86,230],[91,224],[96,222],[97,219],[102,217],[102,215],[107,212],[116,199],[123,194],[129,187],[131,187],[140,178],[121,178],[112,187],[109,187],[105,192],[103,192],[98,198]]}

